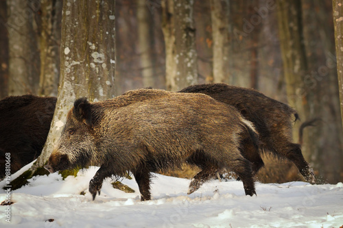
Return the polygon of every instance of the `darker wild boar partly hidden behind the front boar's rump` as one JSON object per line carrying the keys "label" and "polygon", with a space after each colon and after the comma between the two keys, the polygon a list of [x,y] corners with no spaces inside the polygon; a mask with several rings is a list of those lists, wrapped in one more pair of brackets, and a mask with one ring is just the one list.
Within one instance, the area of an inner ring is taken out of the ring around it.
{"label": "darker wild boar partly hidden behind the front boar's rump", "polygon": [[[266,97],[257,90],[227,84],[199,84],[189,86],[179,92],[207,94],[217,101],[237,108],[259,132],[260,153],[268,151],[276,157],[292,161],[307,181],[316,182],[313,170],[309,168],[309,164],[303,157],[300,144],[292,142],[291,117],[294,116],[294,121],[296,121],[298,114],[289,105]],[[263,166],[263,161],[255,150],[246,151],[246,158],[255,164],[253,173],[257,173]]]}

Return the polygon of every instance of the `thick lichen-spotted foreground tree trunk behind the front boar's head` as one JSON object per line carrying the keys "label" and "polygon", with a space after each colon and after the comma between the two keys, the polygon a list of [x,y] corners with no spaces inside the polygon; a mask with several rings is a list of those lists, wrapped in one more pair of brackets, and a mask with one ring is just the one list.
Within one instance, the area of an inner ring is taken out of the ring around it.
{"label": "thick lichen-spotted foreground tree trunk behind the front boar's head", "polygon": [[32,170],[49,158],[75,99],[115,97],[115,1],[64,1],[62,12],[58,100],[47,142]]}

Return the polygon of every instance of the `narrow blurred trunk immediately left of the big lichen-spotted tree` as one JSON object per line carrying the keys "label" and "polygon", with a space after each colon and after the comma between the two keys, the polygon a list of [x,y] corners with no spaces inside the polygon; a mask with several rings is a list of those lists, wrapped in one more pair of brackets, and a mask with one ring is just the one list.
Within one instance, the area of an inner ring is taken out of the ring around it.
{"label": "narrow blurred trunk immediately left of the big lichen-spotted tree", "polygon": [[40,81],[38,94],[57,96],[60,77],[62,1],[41,1]]}

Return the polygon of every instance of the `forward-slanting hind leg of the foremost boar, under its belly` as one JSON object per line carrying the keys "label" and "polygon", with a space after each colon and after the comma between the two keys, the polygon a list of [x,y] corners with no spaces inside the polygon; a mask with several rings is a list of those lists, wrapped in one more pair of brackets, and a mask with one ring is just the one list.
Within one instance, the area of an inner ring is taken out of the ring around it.
{"label": "forward-slanting hind leg of the foremost boar, under its belly", "polygon": [[191,183],[189,183],[189,188],[187,194],[191,194],[198,190],[203,183],[213,179],[217,175],[217,168],[213,166],[205,166],[197,175],[193,177]]}

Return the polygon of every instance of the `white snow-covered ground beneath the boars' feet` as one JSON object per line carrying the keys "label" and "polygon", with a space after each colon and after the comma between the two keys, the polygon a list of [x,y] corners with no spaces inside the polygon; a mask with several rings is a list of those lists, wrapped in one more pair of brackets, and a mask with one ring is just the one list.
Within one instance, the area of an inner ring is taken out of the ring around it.
{"label": "white snow-covered ground beneath the boars' feet", "polygon": [[[343,183],[256,183],[257,196],[250,197],[240,181],[213,180],[187,195],[190,180],[156,175],[151,201],[139,201],[134,179],[123,183],[136,192],[115,190],[106,181],[101,195],[92,201],[88,182],[96,171],[91,167],[64,181],[57,173],[34,177],[28,186],[11,192],[10,223],[7,206],[0,206],[0,227],[343,226]],[[6,198],[1,191],[0,202]]]}

